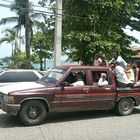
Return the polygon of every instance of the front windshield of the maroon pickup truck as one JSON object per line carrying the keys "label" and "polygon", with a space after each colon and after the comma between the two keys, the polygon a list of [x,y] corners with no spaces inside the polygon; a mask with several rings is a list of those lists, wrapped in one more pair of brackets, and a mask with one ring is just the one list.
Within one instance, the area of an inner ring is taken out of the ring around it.
{"label": "front windshield of the maroon pickup truck", "polygon": [[45,85],[55,85],[65,73],[66,70],[63,69],[51,69],[41,79],[38,80],[38,83]]}

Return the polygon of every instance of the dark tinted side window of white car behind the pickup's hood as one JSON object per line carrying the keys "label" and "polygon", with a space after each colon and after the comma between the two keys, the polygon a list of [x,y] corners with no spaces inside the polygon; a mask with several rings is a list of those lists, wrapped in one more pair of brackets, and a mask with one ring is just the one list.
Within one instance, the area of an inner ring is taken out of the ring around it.
{"label": "dark tinted side window of white car behind the pickup's hood", "polygon": [[0,75],[0,82],[26,82],[37,80],[38,76],[34,72],[5,72]]}

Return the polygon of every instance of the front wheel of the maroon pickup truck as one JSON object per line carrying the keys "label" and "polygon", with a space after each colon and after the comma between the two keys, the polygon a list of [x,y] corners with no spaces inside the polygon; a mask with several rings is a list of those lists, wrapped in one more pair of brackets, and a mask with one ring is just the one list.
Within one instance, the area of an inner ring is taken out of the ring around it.
{"label": "front wheel of the maroon pickup truck", "polygon": [[41,101],[31,100],[25,102],[19,112],[19,119],[25,125],[41,124],[47,115],[47,110]]}

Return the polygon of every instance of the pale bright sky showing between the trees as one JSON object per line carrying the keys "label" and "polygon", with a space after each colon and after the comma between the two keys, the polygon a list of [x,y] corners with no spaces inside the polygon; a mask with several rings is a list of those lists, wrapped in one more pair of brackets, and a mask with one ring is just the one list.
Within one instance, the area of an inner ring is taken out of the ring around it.
{"label": "pale bright sky showing between the trees", "polygon": [[[0,0],[0,4],[10,4],[9,1],[13,1],[13,0]],[[34,0],[34,2],[37,2],[37,0]],[[11,12],[9,10],[9,8],[4,8],[0,6],[0,20],[4,17],[11,17],[11,16],[15,16],[15,14],[13,12]],[[8,25],[8,27],[12,27],[13,25]],[[7,27],[7,25],[0,25],[0,38],[3,37],[2,31]],[[136,37],[138,40],[140,40],[140,32],[137,31],[130,31],[129,29],[125,30],[125,32],[128,35],[134,36]],[[140,47],[140,44],[136,44],[137,47]],[[25,51],[24,47],[22,46],[22,51]],[[7,57],[7,56],[11,56],[11,52],[12,52],[12,47],[10,44],[8,43],[3,43],[0,45],[0,58],[3,57]]]}

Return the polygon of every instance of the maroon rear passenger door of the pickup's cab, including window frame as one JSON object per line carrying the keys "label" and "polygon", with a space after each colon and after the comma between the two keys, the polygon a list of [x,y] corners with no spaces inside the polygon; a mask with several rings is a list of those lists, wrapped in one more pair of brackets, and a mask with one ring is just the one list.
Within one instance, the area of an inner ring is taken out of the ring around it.
{"label": "maroon rear passenger door of the pickup's cab, including window frame", "polygon": [[[108,85],[98,86],[98,81],[101,73],[107,75],[106,80]],[[91,78],[93,83],[91,86],[91,106],[93,109],[111,109],[115,105],[116,92],[115,86],[112,82],[112,77],[109,74],[109,71],[92,71]]]}

